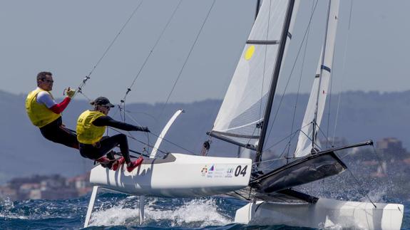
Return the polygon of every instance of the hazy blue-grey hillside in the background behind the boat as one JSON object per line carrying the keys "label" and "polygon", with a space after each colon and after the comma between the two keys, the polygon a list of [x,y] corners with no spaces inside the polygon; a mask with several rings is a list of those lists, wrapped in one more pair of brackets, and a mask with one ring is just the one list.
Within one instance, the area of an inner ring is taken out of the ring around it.
{"label": "hazy blue-grey hillside in the background behind the boat", "polygon": [[[84,160],[76,150],[71,150],[62,145],[56,145],[44,140],[39,129],[31,125],[24,110],[25,95],[14,95],[0,91],[0,155],[5,161],[0,167],[0,184],[11,177],[27,174],[51,174],[63,175],[81,174],[91,168],[91,160]],[[339,108],[339,120],[337,121],[336,136],[345,137],[348,142],[362,140],[379,140],[382,137],[397,137],[403,141],[404,147],[409,147],[410,128],[408,115],[410,114],[410,91],[401,93],[364,93],[347,92],[342,94]],[[275,98],[274,113],[278,108],[281,98]],[[297,115],[294,120],[293,130],[300,126],[303,111],[306,106],[308,95],[299,95]],[[267,146],[286,137],[291,132],[294,102],[296,95],[285,95],[277,114]],[[330,116],[324,115],[322,130],[327,133],[327,117],[330,117],[329,136],[333,135],[334,118],[337,111],[337,95],[332,95]],[[58,100],[59,101],[59,100]],[[185,110],[170,128],[166,139],[180,147],[163,142],[161,149],[170,152],[199,153],[202,143],[207,139],[205,132],[212,127],[213,120],[217,115],[221,101],[204,100],[195,103],[170,103],[163,110],[163,103],[155,105],[136,103],[126,106],[130,115],[138,120],[140,125],[150,127],[150,130],[158,134],[167,122],[168,118],[182,108]],[[73,100],[63,114],[63,122],[75,129],[78,115],[90,108],[85,100]],[[158,117],[163,110],[162,116]],[[329,111],[328,108],[326,111]],[[113,109],[111,115],[116,113]],[[117,119],[119,113],[115,116]],[[130,117],[126,121],[134,123]],[[110,131],[110,134],[114,134]],[[153,145],[156,138],[145,133],[133,132],[132,135],[143,142]],[[143,144],[130,141],[130,147],[134,150],[142,150]],[[282,151],[280,148],[272,150]],[[233,145],[217,140],[212,142],[210,155],[235,156],[237,148]]]}

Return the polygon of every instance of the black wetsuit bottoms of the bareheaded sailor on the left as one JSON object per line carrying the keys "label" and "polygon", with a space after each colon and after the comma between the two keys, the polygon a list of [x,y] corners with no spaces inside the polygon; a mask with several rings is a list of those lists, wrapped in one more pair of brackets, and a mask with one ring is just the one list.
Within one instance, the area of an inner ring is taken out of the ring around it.
{"label": "black wetsuit bottoms of the bareheaded sailor on the left", "polygon": [[63,119],[58,117],[50,124],[40,128],[43,137],[52,142],[60,143],[68,147],[78,149],[78,140],[75,132],[63,127]]}

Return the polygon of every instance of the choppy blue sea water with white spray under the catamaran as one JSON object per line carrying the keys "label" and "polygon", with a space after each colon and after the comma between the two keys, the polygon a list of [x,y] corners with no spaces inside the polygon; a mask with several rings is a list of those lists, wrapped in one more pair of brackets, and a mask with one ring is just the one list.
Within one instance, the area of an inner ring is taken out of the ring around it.
{"label": "choppy blue sea water with white spray under the catamaran", "polygon": [[[90,195],[66,200],[0,200],[0,229],[81,229]],[[138,224],[138,197],[98,193],[88,229],[301,229],[234,224],[246,203],[229,197],[145,199],[145,221]],[[402,229],[410,229],[410,201],[404,204]],[[332,228],[334,229],[334,228]],[[337,228],[336,228],[337,229]]]}

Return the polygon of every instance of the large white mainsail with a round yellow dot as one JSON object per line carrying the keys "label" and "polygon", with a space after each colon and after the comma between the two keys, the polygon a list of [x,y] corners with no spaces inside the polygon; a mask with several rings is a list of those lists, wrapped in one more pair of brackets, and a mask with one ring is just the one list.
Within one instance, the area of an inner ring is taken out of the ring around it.
{"label": "large white mainsail with a round yellow dot", "polygon": [[[244,145],[257,142],[260,136],[258,125],[265,112],[288,3],[288,0],[262,2],[212,134]],[[298,3],[294,4],[288,39]]]}

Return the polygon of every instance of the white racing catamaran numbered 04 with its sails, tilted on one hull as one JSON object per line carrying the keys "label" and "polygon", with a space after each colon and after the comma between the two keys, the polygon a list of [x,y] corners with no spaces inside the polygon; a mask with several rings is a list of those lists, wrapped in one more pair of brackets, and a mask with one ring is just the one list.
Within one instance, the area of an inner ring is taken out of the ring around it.
{"label": "white racing catamaran numbered 04 with its sails, tilted on one hull", "polygon": [[90,182],[95,186],[84,227],[90,221],[98,188],[103,188],[140,196],[140,223],[145,196],[229,194],[249,202],[236,211],[235,222],[241,224],[400,229],[402,204],[324,199],[294,189],[344,172],[347,166],[337,151],[373,144],[367,141],[324,150],[317,138],[332,73],[339,0],[328,1],[324,43],[294,157],[269,172],[260,169],[275,90],[298,9],[299,1],[295,0],[265,0],[260,8],[258,3],[252,31],[208,132],[210,137],[255,152],[255,159],[181,153],[156,157],[163,137],[182,113],[178,110],[163,128],[150,158],[138,169],[127,172],[121,167],[112,171],[97,165],[91,170]]}

